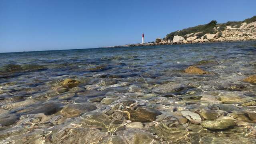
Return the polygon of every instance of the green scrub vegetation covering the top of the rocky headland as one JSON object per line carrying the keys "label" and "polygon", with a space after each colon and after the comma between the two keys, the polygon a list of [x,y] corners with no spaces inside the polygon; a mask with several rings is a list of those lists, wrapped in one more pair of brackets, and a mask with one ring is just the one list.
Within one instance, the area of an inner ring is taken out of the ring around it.
{"label": "green scrub vegetation covering the top of the rocky headland", "polygon": [[216,34],[217,32],[221,34],[220,32],[225,30],[227,26],[231,26],[232,28],[240,28],[243,22],[246,22],[247,24],[249,24],[255,21],[256,21],[256,16],[253,16],[252,18],[248,18],[244,21],[232,21],[232,22],[230,21],[222,24],[217,24],[216,20],[212,20],[208,24],[198,25],[190,28],[185,28],[183,30],[171,32],[170,34],[166,35],[166,40],[168,39],[173,40],[173,37],[176,35],[186,37],[186,34],[191,34],[191,33],[196,33],[196,36],[198,37],[204,36],[204,34]]}

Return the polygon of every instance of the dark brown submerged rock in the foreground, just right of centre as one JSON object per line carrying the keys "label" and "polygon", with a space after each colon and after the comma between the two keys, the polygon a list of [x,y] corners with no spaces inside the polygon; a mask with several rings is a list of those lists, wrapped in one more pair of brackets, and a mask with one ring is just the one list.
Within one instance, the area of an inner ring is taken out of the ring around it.
{"label": "dark brown submerged rock in the foreground, just right of centre", "polygon": [[156,116],[161,114],[161,112],[152,108],[138,108],[136,110],[128,110],[128,112],[132,122],[152,122],[156,120]]}

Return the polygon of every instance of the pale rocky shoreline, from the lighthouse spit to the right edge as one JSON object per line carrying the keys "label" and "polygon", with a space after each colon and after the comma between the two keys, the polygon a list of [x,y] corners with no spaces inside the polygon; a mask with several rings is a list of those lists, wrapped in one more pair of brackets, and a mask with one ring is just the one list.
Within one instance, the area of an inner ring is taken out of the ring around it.
{"label": "pale rocky shoreline, from the lighthouse spit to the right edge", "polygon": [[155,45],[172,45],[172,44],[196,44],[206,42],[237,42],[256,40],[256,22],[247,24],[242,23],[240,27],[226,26],[225,29],[219,30],[220,26],[216,27],[216,34],[204,34],[198,37],[200,32],[186,34],[185,36],[175,35],[172,40],[165,38],[156,38],[155,42],[144,44],[126,44],[121,46],[113,46],[112,48],[119,47],[133,47],[133,46],[155,46]]}

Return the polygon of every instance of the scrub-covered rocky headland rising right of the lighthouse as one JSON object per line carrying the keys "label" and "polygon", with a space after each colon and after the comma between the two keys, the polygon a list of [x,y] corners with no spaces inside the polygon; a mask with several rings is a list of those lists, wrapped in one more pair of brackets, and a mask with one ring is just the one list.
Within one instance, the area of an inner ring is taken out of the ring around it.
{"label": "scrub-covered rocky headland rising right of the lighthouse", "polygon": [[256,39],[256,16],[243,21],[218,24],[212,20],[208,24],[198,25],[157,38],[157,44],[182,44],[209,41],[240,41]]}

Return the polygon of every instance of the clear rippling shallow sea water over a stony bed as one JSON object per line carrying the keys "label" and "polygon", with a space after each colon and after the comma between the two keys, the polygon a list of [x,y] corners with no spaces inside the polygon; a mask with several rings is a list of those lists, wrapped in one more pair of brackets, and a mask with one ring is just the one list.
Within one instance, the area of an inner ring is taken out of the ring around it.
{"label": "clear rippling shallow sea water over a stony bed", "polygon": [[256,143],[252,74],[255,41],[0,54],[0,143]]}

